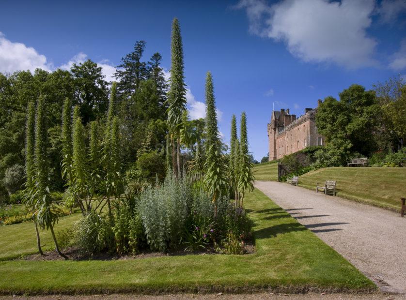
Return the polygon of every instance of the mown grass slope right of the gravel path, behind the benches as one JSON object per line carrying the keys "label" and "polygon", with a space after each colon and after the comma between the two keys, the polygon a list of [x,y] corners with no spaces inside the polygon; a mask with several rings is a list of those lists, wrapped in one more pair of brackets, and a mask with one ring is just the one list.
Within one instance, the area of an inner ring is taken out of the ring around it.
{"label": "mown grass slope right of the gravel path, behind the benches", "polygon": [[399,199],[406,197],[406,168],[321,168],[301,175],[299,186],[315,189],[325,180],[337,180],[338,196],[391,210],[400,210]]}

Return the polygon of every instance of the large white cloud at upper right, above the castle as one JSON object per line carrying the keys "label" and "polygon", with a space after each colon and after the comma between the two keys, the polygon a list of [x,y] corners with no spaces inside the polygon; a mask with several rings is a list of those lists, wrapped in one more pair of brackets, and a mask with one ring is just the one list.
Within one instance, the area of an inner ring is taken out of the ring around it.
{"label": "large white cloud at upper right, above the castle", "polygon": [[250,32],[283,41],[289,52],[306,62],[334,62],[348,69],[376,65],[377,42],[367,36],[374,0],[241,0]]}

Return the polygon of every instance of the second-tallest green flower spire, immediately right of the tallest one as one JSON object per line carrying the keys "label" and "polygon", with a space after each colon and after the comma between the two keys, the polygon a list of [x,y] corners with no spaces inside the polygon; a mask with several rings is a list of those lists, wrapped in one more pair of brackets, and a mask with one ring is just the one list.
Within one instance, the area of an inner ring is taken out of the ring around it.
{"label": "second-tallest green flower spire, immediately right of the tallest one", "polygon": [[217,200],[227,193],[227,166],[221,153],[219,128],[217,125],[216,104],[214,99],[213,78],[210,72],[206,75],[206,161],[204,164],[203,185],[212,196],[214,214],[217,217]]}

